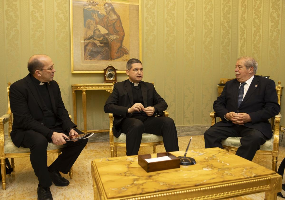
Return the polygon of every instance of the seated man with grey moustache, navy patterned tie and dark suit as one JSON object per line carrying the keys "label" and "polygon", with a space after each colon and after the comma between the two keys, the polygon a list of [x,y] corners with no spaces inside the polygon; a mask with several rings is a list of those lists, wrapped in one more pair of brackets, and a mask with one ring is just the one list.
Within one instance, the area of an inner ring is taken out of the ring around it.
{"label": "seated man with grey moustache, navy patterned tie and dark suit", "polygon": [[257,62],[241,57],[235,65],[236,79],[225,84],[221,96],[214,101],[214,111],[222,121],[205,133],[205,147],[220,147],[227,137],[241,137],[236,155],[252,160],[260,145],[272,137],[268,119],[280,112],[275,83],[256,76]]}

